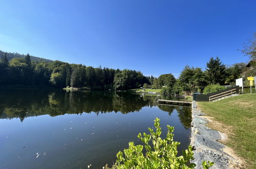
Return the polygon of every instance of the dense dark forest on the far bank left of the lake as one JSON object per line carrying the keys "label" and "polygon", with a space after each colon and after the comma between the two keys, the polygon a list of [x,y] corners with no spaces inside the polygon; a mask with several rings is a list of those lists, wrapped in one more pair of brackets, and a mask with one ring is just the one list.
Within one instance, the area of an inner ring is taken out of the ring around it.
{"label": "dense dark forest on the far bank left of the lake", "polygon": [[8,60],[5,53],[0,61],[0,72],[0,85],[127,90],[140,88],[144,83],[150,84],[150,77],[140,71],[93,68],[58,60],[32,61],[29,54],[25,58],[14,57]]}

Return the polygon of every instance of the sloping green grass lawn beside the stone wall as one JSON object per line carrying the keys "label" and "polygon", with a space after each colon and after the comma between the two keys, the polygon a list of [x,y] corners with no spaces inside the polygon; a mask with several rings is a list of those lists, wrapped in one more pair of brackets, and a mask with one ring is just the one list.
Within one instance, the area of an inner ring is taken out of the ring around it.
{"label": "sloping green grass lawn beside the stone wall", "polygon": [[247,162],[248,168],[256,168],[256,94],[198,102],[198,105],[207,116],[221,123],[209,123],[209,127],[226,133],[228,139],[224,143]]}

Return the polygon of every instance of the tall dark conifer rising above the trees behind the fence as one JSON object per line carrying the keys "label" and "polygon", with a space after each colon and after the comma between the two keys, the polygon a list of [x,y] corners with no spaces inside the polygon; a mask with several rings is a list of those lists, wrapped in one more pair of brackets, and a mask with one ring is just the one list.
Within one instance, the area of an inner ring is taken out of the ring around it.
{"label": "tall dark conifer rising above the trees behind the fence", "polygon": [[210,58],[209,62],[206,64],[206,73],[210,84],[220,83],[224,85],[225,83],[225,65],[222,64],[219,57],[214,59],[213,57]]}

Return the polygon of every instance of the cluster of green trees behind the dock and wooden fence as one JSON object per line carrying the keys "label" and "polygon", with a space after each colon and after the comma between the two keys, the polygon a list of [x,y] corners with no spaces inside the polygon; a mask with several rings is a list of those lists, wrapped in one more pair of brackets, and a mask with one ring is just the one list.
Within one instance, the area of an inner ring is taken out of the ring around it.
{"label": "cluster of green trees behind the dock and wooden fence", "polygon": [[243,62],[225,66],[219,57],[211,57],[205,71],[202,68],[186,66],[171,86],[162,89],[162,94],[168,96],[186,92],[190,95],[193,92],[203,92],[208,85],[235,85],[235,79],[242,76],[246,71],[245,67]]}

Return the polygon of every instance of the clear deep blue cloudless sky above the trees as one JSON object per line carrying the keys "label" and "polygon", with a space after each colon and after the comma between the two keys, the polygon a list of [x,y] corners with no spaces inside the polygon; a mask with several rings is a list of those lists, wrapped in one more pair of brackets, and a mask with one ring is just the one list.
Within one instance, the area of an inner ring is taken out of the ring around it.
{"label": "clear deep blue cloudless sky above the trees", "polygon": [[0,50],[86,66],[172,73],[248,61],[256,1],[5,1]]}

